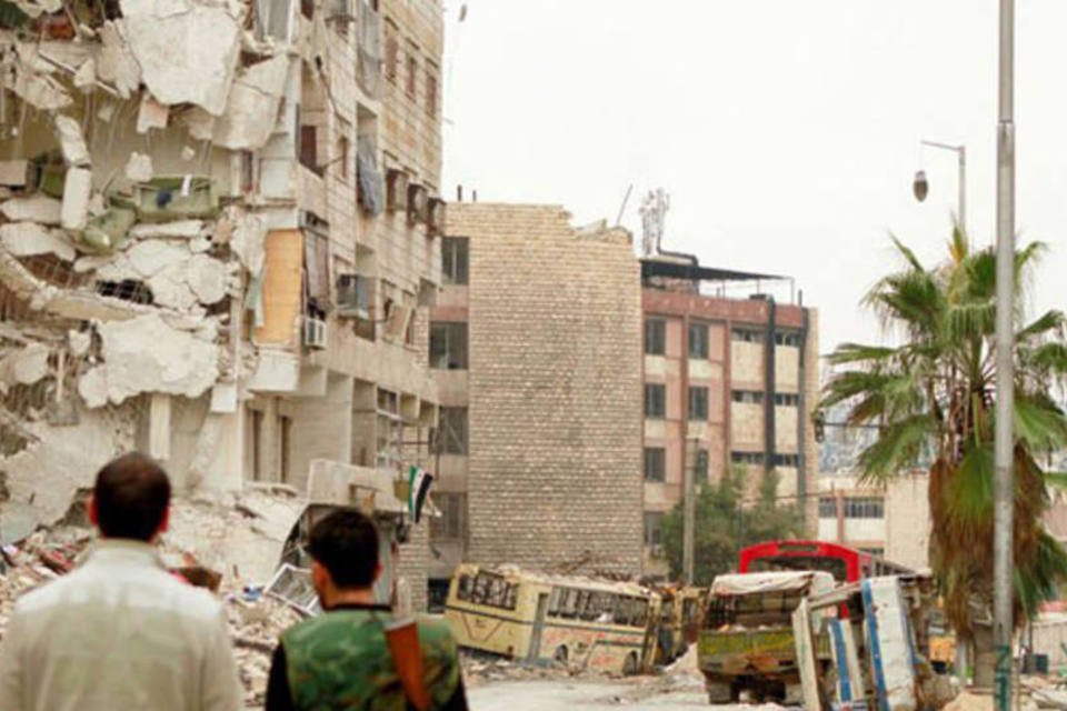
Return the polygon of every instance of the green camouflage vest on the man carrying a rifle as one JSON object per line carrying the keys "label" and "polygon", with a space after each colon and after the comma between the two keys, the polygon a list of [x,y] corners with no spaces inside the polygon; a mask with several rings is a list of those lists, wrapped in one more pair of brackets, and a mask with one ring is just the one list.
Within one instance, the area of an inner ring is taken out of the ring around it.
{"label": "green camouflage vest on the man carrying a rifle", "polygon": [[[390,620],[388,609],[352,607],[325,612],[287,630],[280,647],[291,708],[409,708],[386,643],[383,624]],[[435,620],[419,620],[418,628],[430,708],[465,709],[459,655],[451,631]],[[271,709],[270,699],[267,708]]]}

